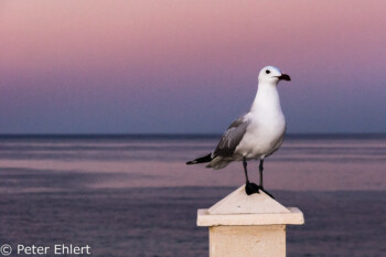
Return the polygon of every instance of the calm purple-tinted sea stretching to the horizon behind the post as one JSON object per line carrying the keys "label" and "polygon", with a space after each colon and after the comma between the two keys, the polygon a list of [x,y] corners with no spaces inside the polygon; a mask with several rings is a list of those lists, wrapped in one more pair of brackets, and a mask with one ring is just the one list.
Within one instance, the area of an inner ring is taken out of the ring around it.
{"label": "calm purple-tinted sea stretching to the horizon behind the post", "polygon": [[[10,256],[58,256],[57,244],[89,246],[60,256],[208,256],[196,211],[243,185],[244,171],[185,162],[218,139],[0,136],[0,247]],[[257,161],[248,170],[258,182]],[[386,135],[289,135],[264,174],[277,201],[304,214],[304,225],[287,227],[287,256],[386,256]],[[50,251],[29,255],[29,246]]]}

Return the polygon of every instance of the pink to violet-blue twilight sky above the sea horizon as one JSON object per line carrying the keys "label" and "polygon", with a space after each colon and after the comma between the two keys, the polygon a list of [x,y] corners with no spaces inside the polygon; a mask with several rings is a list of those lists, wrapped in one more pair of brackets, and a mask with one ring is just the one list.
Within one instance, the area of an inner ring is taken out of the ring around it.
{"label": "pink to violet-blue twilight sky above the sea horizon", "polygon": [[386,1],[0,1],[0,133],[221,133],[275,65],[290,133],[386,132]]}

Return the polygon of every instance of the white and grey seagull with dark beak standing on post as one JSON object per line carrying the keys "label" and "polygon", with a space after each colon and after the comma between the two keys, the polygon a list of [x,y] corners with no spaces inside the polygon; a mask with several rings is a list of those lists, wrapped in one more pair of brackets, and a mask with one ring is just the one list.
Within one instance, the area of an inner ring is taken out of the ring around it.
{"label": "white and grey seagull with dark beak standing on post", "polygon": [[[280,81],[291,81],[290,76],[275,66],[264,67],[258,76],[255,100],[249,111],[230,124],[217,147],[211,153],[186,164],[207,163],[206,168],[219,170],[233,161],[242,161],[247,195],[262,191],[264,159],[276,152],[286,133],[286,117],[281,110],[277,86]],[[259,185],[248,179],[247,161],[259,160]]]}

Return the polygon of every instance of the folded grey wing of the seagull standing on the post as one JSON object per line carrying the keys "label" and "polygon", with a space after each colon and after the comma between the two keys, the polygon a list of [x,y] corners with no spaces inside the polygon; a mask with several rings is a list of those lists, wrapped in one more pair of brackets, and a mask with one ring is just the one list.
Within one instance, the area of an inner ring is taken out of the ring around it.
{"label": "folded grey wing of the seagull standing on the post", "polygon": [[216,149],[213,151],[213,157],[230,157],[235,152],[238,143],[242,141],[249,124],[250,121],[245,120],[244,116],[233,121],[233,124],[223,135]]}

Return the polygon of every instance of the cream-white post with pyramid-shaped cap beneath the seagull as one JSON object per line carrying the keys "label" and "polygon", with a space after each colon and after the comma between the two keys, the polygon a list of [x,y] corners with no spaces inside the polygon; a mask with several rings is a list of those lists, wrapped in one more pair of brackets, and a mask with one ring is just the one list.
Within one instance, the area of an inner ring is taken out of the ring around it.
{"label": "cream-white post with pyramid-shaped cap beneath the seagull", "polygon": [[286,225],[304,224],[303,213],[244,188],[197,212],[197,226],[210,227],[210,257],[285,257]]}

